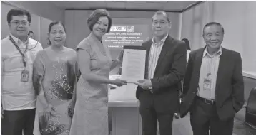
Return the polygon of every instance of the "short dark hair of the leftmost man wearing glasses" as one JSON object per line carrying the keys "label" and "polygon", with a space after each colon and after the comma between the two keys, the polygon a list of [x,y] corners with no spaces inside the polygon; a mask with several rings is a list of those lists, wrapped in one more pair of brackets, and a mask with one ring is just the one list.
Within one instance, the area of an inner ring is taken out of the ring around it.
{"label": "short dark hair of the leftmost man wearing glasses", "polygon": [[29,23],[31,23],[31,14],[29,13],[29,11],[26,11],[25,9],[20,9],[20,8],[11,9],[7,13],[7,22],[8,23],[11,22],[12,16],[27,16]]}

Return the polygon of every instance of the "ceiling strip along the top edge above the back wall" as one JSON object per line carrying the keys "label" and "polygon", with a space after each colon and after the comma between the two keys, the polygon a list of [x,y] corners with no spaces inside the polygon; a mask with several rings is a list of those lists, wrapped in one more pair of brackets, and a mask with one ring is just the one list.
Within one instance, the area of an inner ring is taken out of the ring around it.
{"label": "ceiling strip along the top edge above the back wall", "polygon": [[182,11],[200,1],[49,1],[60,9],[104,8],[124,11]]}

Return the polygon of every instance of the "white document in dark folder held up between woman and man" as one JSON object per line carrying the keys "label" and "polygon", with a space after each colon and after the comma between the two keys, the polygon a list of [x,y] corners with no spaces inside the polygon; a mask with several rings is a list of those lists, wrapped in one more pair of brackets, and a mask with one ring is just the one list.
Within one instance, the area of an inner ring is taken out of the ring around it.
{"label": "white document in dark folder held up between woman and man", "polygon": [[124,46],[122,80],[134,83],[144,80],[146,49],[142,46]]}

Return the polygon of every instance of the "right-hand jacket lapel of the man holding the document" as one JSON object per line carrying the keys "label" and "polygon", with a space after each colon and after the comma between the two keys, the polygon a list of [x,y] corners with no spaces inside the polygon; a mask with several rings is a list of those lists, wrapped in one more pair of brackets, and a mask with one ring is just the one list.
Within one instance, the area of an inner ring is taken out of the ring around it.
{"label": "right-hand jacket lapel of the man holding the document", "polygon": [[157,60],[156,69],[154,70],[154,75],[157,72],[157,70],[159,68],[159,65],[161,65],[162,60],[164,60],[164,57],[165,57],[166,53],[173,47],[172,40],[173,40],[172,37],[167,36],[166,40],[164,41],[164,45],[162,46],[161,53],[160,53],[159,58]]}

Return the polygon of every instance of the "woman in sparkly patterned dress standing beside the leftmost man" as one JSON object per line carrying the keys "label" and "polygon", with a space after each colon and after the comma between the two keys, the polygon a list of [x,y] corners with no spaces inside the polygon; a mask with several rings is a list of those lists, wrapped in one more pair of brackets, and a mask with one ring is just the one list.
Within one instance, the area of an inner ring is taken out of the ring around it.
{"label": "woman in sparkly patterned dress standing beside the leftmost man", "polygon": [[60,21],[50,23],[48,34],[51,46],[39,51],[34,61],[33,85],[38,95],[34,134],[69,135],[77,53],[64,47],[66,33]]}

